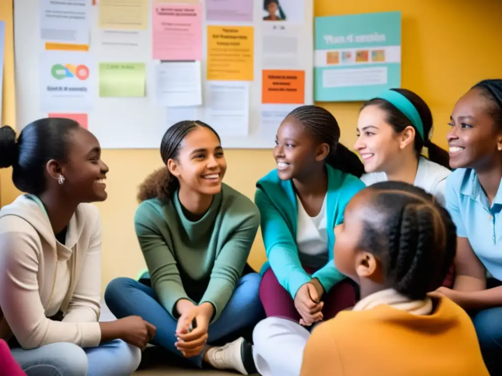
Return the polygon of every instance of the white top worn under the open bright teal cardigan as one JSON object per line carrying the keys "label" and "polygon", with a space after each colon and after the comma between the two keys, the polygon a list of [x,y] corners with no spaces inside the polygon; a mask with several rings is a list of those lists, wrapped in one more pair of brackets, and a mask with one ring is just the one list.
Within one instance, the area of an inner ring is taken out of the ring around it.
{"label": "white top worn under the open bright teal cardigan", "polygon": [[318,268],[328,261],[328,233],[326,197],[319,214],[310,217],[297,197],[298,225],[296,230],[296,244],[300,261],[305,266]]}

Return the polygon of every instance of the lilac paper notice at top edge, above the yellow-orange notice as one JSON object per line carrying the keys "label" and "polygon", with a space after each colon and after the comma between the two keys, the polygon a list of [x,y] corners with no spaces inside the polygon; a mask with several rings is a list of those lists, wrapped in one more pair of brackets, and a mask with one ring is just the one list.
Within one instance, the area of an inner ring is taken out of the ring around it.
{"label": "lilac paper notice at top edge, above the yellow-orange notice", "polygon": [[207,21],[252,22],[253,0],[206,0],[206,19]]}

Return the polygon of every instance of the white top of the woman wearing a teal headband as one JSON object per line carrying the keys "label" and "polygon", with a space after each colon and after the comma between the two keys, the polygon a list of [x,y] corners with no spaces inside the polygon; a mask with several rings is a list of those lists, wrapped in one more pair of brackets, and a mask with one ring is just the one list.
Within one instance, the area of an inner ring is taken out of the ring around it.
{"label": "white top of the woman wearing a teal headband", "polygon": [[[446,178],[450,173],[451,171],[448,168],[421,156],[418,161],[417,175],[415,176],[413,185],[434,195],[438,203],[444,207]],[[381,181],[387,181],[388,178],[385,172],[370,172],[362,175],[361,180],[367,186]]]}

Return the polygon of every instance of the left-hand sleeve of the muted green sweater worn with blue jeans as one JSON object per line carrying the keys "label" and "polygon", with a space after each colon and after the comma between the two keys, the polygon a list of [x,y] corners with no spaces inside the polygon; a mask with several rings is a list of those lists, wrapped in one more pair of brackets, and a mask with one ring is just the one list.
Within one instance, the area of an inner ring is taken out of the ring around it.
{"label": "left-hand sleeve of the muted green sweater worn with blue jeans", "polygon": [[180,299],[192,301],[183,287],[176,259],[159,228],[160,219],[148,202],[142,203],[134,217],[136,236],[150,271],[152,288],[162,306],[177,318],[175,305]]}

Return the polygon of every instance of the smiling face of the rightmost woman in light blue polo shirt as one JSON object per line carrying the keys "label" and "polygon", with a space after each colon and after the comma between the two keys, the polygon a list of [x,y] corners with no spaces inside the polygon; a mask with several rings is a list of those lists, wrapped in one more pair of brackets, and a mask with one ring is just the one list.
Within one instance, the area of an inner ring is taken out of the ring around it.
{"label": "smiling face of the rightmost woman in light blue polo shirt", "polygon": [[483,168],[500,158],[502,129],[491,116],[493,106],[479,88],[471,89],[455,104],[447,135],[450,167]]}

